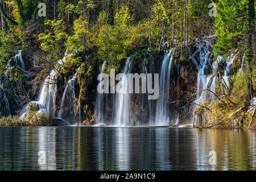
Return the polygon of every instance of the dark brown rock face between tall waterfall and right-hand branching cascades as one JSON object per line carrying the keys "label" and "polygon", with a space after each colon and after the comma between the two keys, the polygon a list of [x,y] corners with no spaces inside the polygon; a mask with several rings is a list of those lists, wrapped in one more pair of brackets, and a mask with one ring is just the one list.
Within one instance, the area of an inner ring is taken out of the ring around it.
{"label": "dark brown rock face between tall waterfall and right-hand branching cascades", "polygon": [[185,124],[188,121],[188,111],[191,105],[187,99],[190,98],[191,101],[195,99],[193,93],[195,92],[196,80],[197,68],[192,60],[188,59],[186,55],[175,56],[170,80],[170,115],[172,121],[178,115],[180,124]]}

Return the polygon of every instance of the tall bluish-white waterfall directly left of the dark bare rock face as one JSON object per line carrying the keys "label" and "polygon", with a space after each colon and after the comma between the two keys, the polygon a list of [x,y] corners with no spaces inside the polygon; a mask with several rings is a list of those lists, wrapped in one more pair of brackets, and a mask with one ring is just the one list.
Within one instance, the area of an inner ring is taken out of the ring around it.
{"label": "tall bluish-white waterfall directly left of the dark bare rock face", "polygon": [[[172,48],[170,52],[166,52],[162,61],[159,83],[159,97],[156,104],[155,126],[170,125],[169,113],[169,89],[172,56],[175,49]],[[171,57],[171,58],[170,58]]]}

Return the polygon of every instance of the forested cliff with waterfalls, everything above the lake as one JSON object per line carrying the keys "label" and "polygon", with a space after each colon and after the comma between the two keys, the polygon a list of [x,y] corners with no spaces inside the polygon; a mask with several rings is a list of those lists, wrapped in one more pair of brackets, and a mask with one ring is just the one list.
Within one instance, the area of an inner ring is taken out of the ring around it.
{"label": "forested cliff with waterfalls, everything above the lake", "polygon": [[[1,0],[0,10],[0,126],[256,128],[254,0]],[[158,100],[97,93],[110,69],[159,73]]]}

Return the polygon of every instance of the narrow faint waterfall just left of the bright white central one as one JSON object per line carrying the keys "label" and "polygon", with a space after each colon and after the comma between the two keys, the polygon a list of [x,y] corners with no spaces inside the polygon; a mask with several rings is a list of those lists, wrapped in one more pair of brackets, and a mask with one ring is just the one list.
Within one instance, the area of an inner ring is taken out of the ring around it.
{"label": "narrow faint waterfall just left of the bright white central one", "polygon": [[[102,64],[101,73],[104,71],[106,61]],[[100,88],[104,85],[102,82],[103,76],[100,77]],[[96,123],[103,124],[105,122],[105,113],[104,113],[104,93],[98,93],[96,98]]]}

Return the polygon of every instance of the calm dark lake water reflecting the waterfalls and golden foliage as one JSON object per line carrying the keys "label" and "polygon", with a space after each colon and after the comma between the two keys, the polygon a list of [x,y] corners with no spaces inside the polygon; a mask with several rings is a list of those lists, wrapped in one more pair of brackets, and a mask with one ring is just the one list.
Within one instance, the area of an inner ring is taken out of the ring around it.
{"label": "calm dark lake water reflecting the waterfalls and golden foliage", "polygon": [[55,169],[255,170],[256,131],[0,127],[0,170]]}

